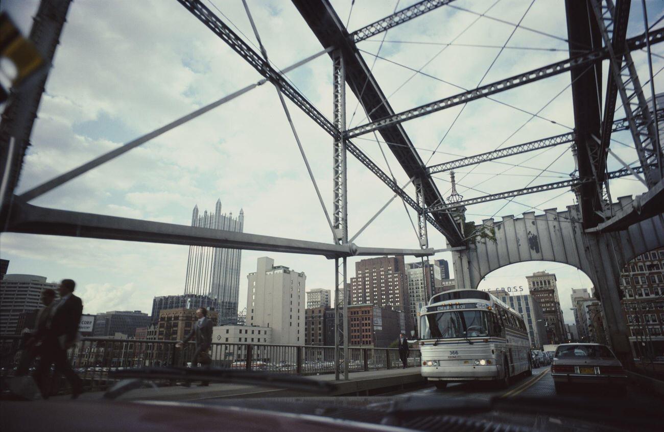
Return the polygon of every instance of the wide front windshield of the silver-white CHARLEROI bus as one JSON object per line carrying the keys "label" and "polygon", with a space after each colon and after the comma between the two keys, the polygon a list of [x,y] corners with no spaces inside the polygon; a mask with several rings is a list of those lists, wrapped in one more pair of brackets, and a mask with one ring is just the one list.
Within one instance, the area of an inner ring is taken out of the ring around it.
{"label": "wide front windshield of the silver-white CHARLEROI bus", "polygon": [[445,311],[426,317],[422,339],[452,339],[489,336],[485,311]]}

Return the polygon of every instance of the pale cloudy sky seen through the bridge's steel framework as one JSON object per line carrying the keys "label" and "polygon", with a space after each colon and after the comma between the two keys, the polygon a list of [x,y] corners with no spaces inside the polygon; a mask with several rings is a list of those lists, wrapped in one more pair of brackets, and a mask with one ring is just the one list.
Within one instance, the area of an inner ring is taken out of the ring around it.
{"label": "pale cloudy sky seen through the bridge's steel framework", "polygon": [[[240,0],[203,1],[252,46],[257,42]],[[331,2],[352,32],[415,1]],[[647,1],[649,22],[664,14],[659,1]],[[3,0],[27,34],[38,6],[33,0]],[[290,1],[248,1],[273,64],[284,69],[321,50],[317,38]],[[454,6],[454,7],[453,7]],[[487,11],[488,9],[488,11]],[[478,14],[485,13],[485,17]],[[490,18],[489,18],[490,17]],[[507,22],[507,23],[505,23]],[[519,27],[509,23],[519,23]],[[658,25],[658,27],[660,27]],[[640,2],[631,7],[627,36],[643,32]],[[544,66],[569,56],[564,1],[458,0],[387,32],[359,42],[395,111],[422,105]],[[453,43],[452,45],[446,45]],[[505,44],[505,48],[501,48]],[[664,44],[653,53],[664,56]],[[378,57],[376,57],[378,56]],[[633,52],[641,82],[649,80],[647,56]],[[404,66],[411,68],[407,69]],[[664,68],[653,56],[655,73]],[[422,73],[414,72],[420,71]],[[608,66],[604,62],[602,80]],[[288,79],[332,118],[332,65],[321,56],[289,72]],[[426,74],[426,76],[424,74]],[[655,92],[664,85],[655,76]],[[433,77],[433,78],[432,78]],[[262,77],[177,1],[75,1],[56,50],[17,193],[49,180],[137,136],[149,133]],[[606,87],[606,84],[604,85]],[[649,85],[644,86],[647,97]],[[438,164],[568,133],[574,127],[570,75],[560,74],[404,123],[426,164]],[[328,211],[332,207],[332,140],[287,101],[293,123]],[[619,104],[620,105],[620,100]],[[537,114],[534,116],[533,114]],[[616,119],[624,117],[622,109]],[[347,89],[347,124],[367,123],[366,113]],[[380,137],[380,136],[379,136]],[[628,132],[613,135],[612,149],[627,162],[637,159]],[[382,138],[380,138],[382,140]],[[408,181],[396,158],[373,134],[353,140],[398,184]],[[382,147],[381,147],[382,146]],[[574,172],[570,149],[556,146],[457,171],[463,197],[558,182]],[[385,150],[385,156],[381,152]],[[351,236],[392,197],[391,191],[353,156],[348,158],[348,213]],[[609,158],[610,170],[621,168]],[[446,173],[436,176],[450,195]],[[634,178],[612,180],[612,196],[645,190]],[[414,196],[414,188],[406,188]],[[92,170],[31,203],[188,225],[195,205],[212,211],[244,209],[246,233],[329,243],[331,233],[297,144],[270,84],[261,85],[165,135]],[[574,203],[568,189],[491,201],[468,208],[467,220],[525,211],[564,209]],[[418,248],[410,218],[399,200],[357,238],[360,246]],[[430,246],[446,247],[429,229]],[[39,274],[48,280],[72,278],[84,312],[149,311],[154,296],[182,294],[187,246],[101,241],[3,233],[0,256],[9,273]],[[246,275],[260,256],[305,272],[307,290],[334,288],[334,262],[305,256],[245,250],[240,274],[240,309],[246,304]],[[450,252],[437,254],[452,269]],[[349,258],[349,278],[359,258]],[[416,258],[406,258],[406,262]],[[525,276],[547,270],[558,277],[561,307],[572,323],[571,288],[590,288],[588,277],[556,262],[513,264],[487,275],[479,288],[527,286]]]}

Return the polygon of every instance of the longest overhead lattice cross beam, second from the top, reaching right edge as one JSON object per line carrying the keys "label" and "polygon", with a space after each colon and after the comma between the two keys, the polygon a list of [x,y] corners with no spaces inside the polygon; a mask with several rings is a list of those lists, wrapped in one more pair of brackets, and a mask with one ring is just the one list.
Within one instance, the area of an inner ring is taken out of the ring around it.
{"label": "longest overhead lattice cross beam, second from the top, reaching right edge", "polygon": [[[642,34],[641,36],[636,36],[627,40],[627,46],[629,47],[629,50],[640,50],[641,48],[645,48],[645,37],[645,34]],[[649,38],[651,45],[663,42],[664,28],[653,30],[650,32]],[[444,99],[439,99],[435,102],[426,103],[425,105],[420,105],[419,107],[409,109],[408,111],[403,111],[401,113],[396,113],[394,115],[372,121],[366,125],[360,125],[353,129],[349,129],[347,131],[347,136],[349,138],[353,138],[355,136],[364,135],[365,133],[376,131],[389,125],[403,123],[404,121],[416,119],[417,117],[422,117],[423,115],[428,115],[443,109],[456,107],[456,105],[461,105],[462,103],[473,101],[475,99],[481,99],[482,97],[494,95],[496,93],[500,93],[501,91],[520,87],[521,85],[543,80],[544,78],[550,78],[564,72],[569,72],[572,69],[584,66],[586,64],[592,64],[606,58],[608,58],[608,51],[606,48],[601,48],[586,54],[574,56],[560,62],[543,66],[542,68],[537,68],[523,74],[506,78],[505,80],[482,85],[476,89],[464,91],[463,93],[446,97]]]}

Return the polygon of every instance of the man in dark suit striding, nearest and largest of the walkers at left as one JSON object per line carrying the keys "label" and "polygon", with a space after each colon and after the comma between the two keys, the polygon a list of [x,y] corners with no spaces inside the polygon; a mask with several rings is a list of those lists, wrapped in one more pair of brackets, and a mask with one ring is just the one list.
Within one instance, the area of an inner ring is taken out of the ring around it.
{"label": "man in dark suit striding, nearest and largest of the walkers at left", "polygon": [[72,399],[78,398],[83,392],[83,381],[76,375],[67,359],[67,350],[76,343],[78,323],[83,313],[83,302],[74,296],[74,288],[76,282],[63,279],[58,288],[60,301],[50,307],[40,349],[41,359],[35,371],[35,380],[44,399],[50,396],[52,377],[49,372],[52,364],[55,366],[54,376],[63,374],[72,386]]}

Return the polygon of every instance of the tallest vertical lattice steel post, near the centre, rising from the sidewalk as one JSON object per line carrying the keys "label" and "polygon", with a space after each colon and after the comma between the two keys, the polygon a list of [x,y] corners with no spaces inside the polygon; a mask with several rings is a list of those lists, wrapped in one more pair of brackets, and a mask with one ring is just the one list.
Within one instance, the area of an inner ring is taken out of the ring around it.
{"label": "tallest vertical lattice steel post, near the centre, rising from the sidewalk", "polygon": [[[333,150],[333,231],[335,244],[348,243],[348,210],[347,210],[347,181],[346,181],[346,71],[343,62],[343,52],[335,50],[332,54],[333,64],[333,122],[337,128]],[[341,268],[339,259],[335,260],[335,377],[339,379],[339,335],[343,334],[343,370],[344,378],[348,379],[348,302],[349,293],[346,286],[346,258],[343,258]],[[341,270],[341,281],[339,272]],[[339,284],[341,284],[341,301],[339,298]],[[343,302],[343,303],[342,303]],[[343,320],[342,322],[339,322]]]}

